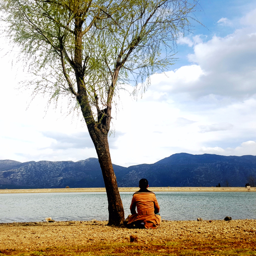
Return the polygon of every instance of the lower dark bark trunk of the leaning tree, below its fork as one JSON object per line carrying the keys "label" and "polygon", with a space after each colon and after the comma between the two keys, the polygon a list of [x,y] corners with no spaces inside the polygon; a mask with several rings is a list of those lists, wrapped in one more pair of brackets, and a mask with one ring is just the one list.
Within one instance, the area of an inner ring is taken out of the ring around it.
{"label": "lower dark bark trunk of the leaning tree, below its fork", "polygon": [[108,225],[120,226],[124,223],[125,212],[110,158],[108,134],[106,132],[103,133],[96,127],[90,127],[89,125],[88,131],[98,154],[98,161],[107,192],[109,203]]}

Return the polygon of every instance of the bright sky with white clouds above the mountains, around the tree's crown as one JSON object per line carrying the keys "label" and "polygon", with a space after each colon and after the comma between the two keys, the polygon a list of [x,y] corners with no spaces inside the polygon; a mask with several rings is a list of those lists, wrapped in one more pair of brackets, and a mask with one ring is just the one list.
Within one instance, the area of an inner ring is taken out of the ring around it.
{"label": "bright sky with white clouds above the mountains, around the tree's crown", "polygon": [[[256,155],[256,0],[199,2],[178,60],[151,77],[142,98],[120,94],[113,111],[112,163],[155,163],[175,153]],[[97,158],[81,114],[55,109],[32,88],[14,50],[0,38],[0,159]]]}

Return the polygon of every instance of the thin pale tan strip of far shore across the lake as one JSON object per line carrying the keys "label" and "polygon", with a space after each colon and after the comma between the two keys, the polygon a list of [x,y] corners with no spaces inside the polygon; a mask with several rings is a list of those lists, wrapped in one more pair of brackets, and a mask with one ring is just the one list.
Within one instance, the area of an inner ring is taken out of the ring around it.
{"label": "thin pale tan strip of far shore across the lake", "polygon": [[[138,187],[120,187],[120,192],[136,192]],[[245,187],[149,187],[150,191],[163,192],[256,192],[256,187],[248,191]],[[0,189],[0,194],[11,193],[63,193],[63,192],[106,192],[105,188],[52,188],[52,189]]]}

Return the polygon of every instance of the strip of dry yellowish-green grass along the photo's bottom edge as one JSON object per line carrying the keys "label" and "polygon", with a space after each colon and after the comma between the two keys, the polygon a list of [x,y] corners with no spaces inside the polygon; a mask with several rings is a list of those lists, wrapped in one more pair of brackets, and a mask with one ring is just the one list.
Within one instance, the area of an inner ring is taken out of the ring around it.
{"label": "strip of dry yellowish-green grass along the photo's bottom edge", "polygon": [[167,241],[164,243],[93,243],[38,251],[5,250],[0,256],[256,256],[256,243],[240,241]]}

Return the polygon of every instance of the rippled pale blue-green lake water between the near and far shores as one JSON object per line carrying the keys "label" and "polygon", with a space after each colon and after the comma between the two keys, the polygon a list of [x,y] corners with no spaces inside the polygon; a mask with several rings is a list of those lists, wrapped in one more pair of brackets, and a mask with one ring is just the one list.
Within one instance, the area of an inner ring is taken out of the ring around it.
{"label": "rippled pale blue-green lake water between the near and far shores", "polygon": [[[131,192],[121,192],[125,217]],[[162,218],[168,220],[256,218],[256,192],[156,192]],[[87,193],[0,194],[0,222],[108,220],[107,195]]]}

